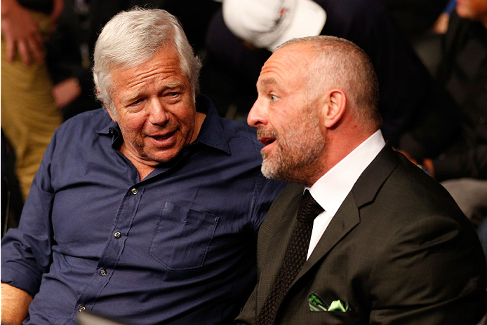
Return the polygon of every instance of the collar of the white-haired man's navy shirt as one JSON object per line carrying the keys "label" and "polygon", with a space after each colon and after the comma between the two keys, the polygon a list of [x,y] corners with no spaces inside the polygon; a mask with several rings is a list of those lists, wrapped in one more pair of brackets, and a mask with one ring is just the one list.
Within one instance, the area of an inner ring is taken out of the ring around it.
{"label": "collar of the white-haired man's navy shirt", "polygon": [[[203,125],[201,125],[198,137],[192,144],[206,144],[206,146],[211,146],[230,154],[230,148],[226,140],[227,137],[225,136],[225,130],[223,129],[222,125],[222,118],[218,115],[215,105],[213,105],[211,99],[205,95],[199,95],[196,97],[196,111],[206,114],[206,118]],[[119,125],[111,118],[107,120],[105,127],[102,127],[97,131],[97,133],[115,134],[114,141],[119,135],[121,135]]]}

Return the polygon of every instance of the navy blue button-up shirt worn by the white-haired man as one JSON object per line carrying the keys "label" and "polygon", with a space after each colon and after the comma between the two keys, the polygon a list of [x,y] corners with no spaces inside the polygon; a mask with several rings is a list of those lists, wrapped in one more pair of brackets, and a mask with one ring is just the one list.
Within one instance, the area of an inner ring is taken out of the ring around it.
{"label": "navy blue button-up shirt worn by the white-haired man", "polygon": [[1,282],[34,296],[28,324],[91,310],[133,324],[231,324],[255,284],[255,240],[286,185],[260,173],[242,123],[206,119],[196,141],[143,181],[99,109],[54,134],[20,226],[1,242]]}

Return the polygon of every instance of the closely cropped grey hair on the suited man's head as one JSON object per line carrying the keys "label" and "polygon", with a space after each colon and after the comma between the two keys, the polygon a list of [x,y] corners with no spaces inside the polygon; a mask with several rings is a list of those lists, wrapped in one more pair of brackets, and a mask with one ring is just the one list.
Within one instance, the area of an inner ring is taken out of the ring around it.
{"label": "closely cropped grey hair on the suited man's head", "polygon": [[334,36],[293,39],[276,48],[306,48],[306,68],[302,80],[310,98],[338,88],[347,95],[348,109],[361,125],[378,130],[382,118],[378,111],[379,85],[371,60],[359,46]]}

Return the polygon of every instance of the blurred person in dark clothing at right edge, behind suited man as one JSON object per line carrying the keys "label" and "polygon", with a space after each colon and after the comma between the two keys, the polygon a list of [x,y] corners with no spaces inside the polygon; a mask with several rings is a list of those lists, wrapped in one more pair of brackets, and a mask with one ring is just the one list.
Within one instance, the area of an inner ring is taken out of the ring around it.
{"label": "blurred person in dark clothing at right edge, behind suited man", "polygon": [[457,1],[441,55],[436,81],[448,90],[455,118],[422,115],[401,148],[441,181],[476,226],[484,223],[479,235],[487,249],[487,1]]}

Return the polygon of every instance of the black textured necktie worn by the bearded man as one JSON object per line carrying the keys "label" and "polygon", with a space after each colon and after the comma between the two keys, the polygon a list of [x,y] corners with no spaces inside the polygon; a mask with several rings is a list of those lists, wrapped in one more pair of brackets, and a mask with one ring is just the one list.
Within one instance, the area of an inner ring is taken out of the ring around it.
{"label": "black textured necktie worn by the bearded man", "polygon": [[300,272],[302,265],[306,261],[309,249],[309,239],[313,230],[313,221],[323,212],[323,208],[316,203],[308,190],[302,195],[298,209],[296,223],[291,233],[288,249],[284,255],[284,261],[276,283],[271,293],[265,300],[262,309],[257,317],[258,325],[274,324],[277,310],[286,296],[291,283]]}

